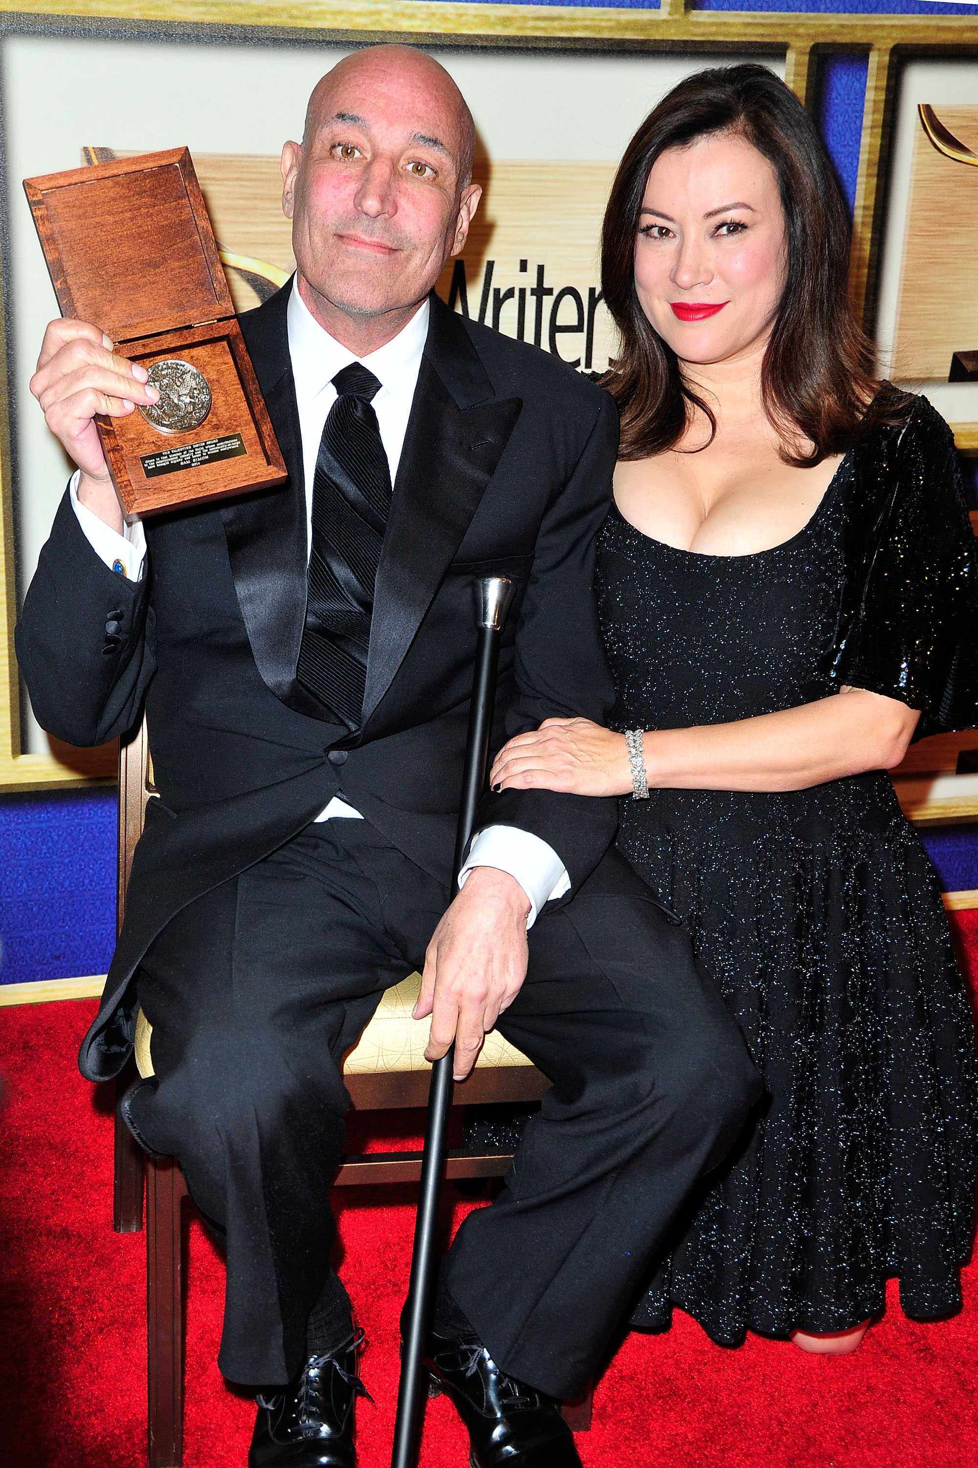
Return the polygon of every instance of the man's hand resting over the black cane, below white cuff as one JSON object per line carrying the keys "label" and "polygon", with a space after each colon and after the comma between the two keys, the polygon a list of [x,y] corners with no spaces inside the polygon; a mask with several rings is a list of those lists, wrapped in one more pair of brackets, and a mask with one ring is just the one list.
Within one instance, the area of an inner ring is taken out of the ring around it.
{"label": "man's hand resting over the black cane, below white cuff", "polygon": [[477,866],[431,935],[415,1019],[431,1014],[425,1060],[455,1041],[456,1080],[475,1064],[485,1035],[526,978],[529,898],[516,878]]}

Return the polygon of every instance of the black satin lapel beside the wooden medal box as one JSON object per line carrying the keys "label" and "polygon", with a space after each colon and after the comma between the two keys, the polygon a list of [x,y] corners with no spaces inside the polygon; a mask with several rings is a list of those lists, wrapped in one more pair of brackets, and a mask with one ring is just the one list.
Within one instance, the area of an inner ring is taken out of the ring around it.
{"label": "black satin lapel beside the wooden medal box", "polygon": [[302,437],[292,368],[286,366],[274,385],[262,383],[262,393],[289,479],[279,489],[227,501],[221,506],[221,518],[238,602],[258,672],[271,691],[287,703],[295,691],[305,619],[308,548]]}

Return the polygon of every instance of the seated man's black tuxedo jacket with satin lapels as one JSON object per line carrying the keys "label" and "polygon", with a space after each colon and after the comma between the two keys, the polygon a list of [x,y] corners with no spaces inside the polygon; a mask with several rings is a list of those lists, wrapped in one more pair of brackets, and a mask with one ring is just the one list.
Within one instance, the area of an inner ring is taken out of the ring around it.
{"label": "seated man's black tuxedo jacket with satin lapels", "polygon": [[[242,330],[289,468],[274,490],[145,523],[138,583],[87,542],[67,495],[16,631],[40,722],[72,744],[125,734],[144,705],[147,809],[98,1019],[79,1064],[132,1048],[132,975],[185,904],[261,860],[342,793],[430,873],[450,876],[475,650],[474,581],[512,577],[493,746],[550,715],[606,722],[613,687],[592,595],[617,414],[607,393],[435,297],[377,573],[361,731],[323,722],[295,681],[306,506],[289,286]],[[610,846],[616,802],[488,794],[481,824],[547,841],[569,900]]]}

